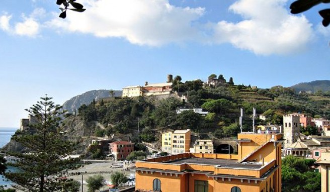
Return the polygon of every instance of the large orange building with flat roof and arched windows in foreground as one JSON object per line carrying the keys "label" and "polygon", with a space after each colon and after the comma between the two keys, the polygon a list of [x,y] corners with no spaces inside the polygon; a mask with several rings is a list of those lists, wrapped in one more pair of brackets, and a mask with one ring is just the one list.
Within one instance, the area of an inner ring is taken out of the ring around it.
{"label": "large orange building with flat roof and arched windows in foreground", "polygon": [[238,154],[181,153],[136,161],[136,191],[281,192],[282,134],[238,134]]}

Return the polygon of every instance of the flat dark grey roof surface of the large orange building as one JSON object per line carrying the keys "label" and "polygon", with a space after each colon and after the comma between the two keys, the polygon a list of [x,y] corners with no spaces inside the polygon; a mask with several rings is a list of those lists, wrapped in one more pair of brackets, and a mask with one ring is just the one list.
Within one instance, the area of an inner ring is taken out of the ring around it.
{"label": "flat dark grey roof surface of the large orange building", "polygon": [[247,169],[260,169],[263,165],[261,163],[255,162],[244,162],[238,163],[234,159],[211,159],[211,158],[186,158],[186,159],[177,159],[172,161],[167,161],[164,163],[171,164],[204,164],[204,165],[215,165],[218,167],[225,168],[247,168]]}

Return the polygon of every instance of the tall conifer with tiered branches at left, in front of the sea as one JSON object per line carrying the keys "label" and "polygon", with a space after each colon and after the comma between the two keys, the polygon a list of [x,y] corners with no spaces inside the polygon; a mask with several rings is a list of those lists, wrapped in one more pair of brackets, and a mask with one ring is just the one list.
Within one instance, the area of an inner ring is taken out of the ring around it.
{"label": "tall conifer with tiered branches at left, in front of the sea", "polygon": [[27,109],[37,123],[31,131],[15,134],[12,139],[25,147],[29,153],[12,152],[18,157],[12,166],[22,170],[5,173],[6,177],[17,183],[15,188],[23,191],[58,191],[67,185],[65,176],[68,169],[77,168],[79,159],[61,159],[73,151],[74,144],[64,140],[60,134],[61,121],[66,117],[62,106],[55,105],[52,98],[44,97],[41,101]]}

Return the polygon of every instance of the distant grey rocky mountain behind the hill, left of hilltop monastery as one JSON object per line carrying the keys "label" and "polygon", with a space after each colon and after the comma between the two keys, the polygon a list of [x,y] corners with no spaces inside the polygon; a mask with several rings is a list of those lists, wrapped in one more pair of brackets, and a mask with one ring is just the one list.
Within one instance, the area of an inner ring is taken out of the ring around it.
{"label": "distant grey rocky mountain behind the hill, left of hilltop monastery", "polygon": [[[113,96],[121,96],[121,90],[114,90]],[[79,109],[82,105],[89,105],[93,100],[96,101],[101,100],[102,98],[111,97],[109,90],[101,89],[101,90],[90,90],[85,93],[79,94],[63,104],[63,109],[67,110],[69,113],[72,113],[74,110]]]}

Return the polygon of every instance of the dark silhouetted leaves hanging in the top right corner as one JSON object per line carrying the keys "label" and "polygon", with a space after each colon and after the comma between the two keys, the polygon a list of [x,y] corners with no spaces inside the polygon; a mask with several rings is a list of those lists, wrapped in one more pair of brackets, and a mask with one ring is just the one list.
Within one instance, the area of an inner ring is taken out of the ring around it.
{"label": "dark silhouetted leaves hanging in the top right corner", "polygon": [[[320,3],[330,3],[329,0],[297,0],[290,5],[292,14],[299,14],[310,8],[320,4]],[[330,9],[321,10],[318,12],[323,18],[322,25],[327,27],[330,24]]]}

